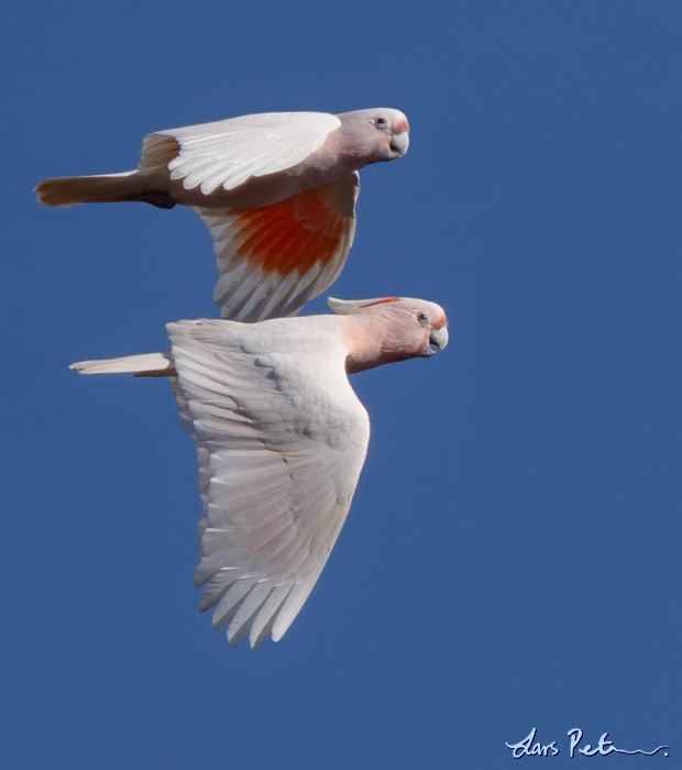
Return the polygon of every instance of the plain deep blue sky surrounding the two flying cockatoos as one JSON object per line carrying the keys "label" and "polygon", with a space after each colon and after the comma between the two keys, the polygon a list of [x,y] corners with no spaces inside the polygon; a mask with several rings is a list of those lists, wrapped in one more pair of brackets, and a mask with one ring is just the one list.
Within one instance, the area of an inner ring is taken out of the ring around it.
{"label": "plain deep blue sky surrounding the two flying cockatoos", "polygon": [[[3,13],[2,766],[672,767],[679,3]],[[411,144],[362,173],[331,294],[438,301],[451,342],[353,377],[373,436],[339,542],[284,639],[231,650],[197,612],[169,388],[67,369],[215,316],[210,238],[31,189],[132,168],[154,130],[375,106]],[[560,754],[514,759],[532,727]],[[575,727],[670,757],[570,758]]]}

